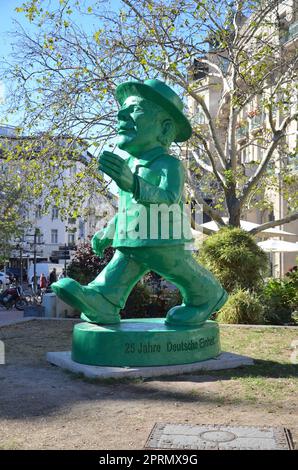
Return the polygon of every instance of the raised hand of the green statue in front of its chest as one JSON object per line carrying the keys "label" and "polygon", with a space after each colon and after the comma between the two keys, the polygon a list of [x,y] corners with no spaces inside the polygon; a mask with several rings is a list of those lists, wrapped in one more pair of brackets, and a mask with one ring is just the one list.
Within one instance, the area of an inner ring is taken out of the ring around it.
{"label": "raised hand of the green statue in front of its chest", "polygon": [[123,158],[115,153],[104,151],[98,163],[99,170],[109,175],[120,189],[127,192],[134,191],[134,175]]}

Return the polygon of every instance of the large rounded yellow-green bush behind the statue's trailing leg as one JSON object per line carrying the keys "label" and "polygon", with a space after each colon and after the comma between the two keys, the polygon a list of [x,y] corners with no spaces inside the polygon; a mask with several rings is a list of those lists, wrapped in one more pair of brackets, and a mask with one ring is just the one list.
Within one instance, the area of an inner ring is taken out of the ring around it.
{"label": "large rounded yellow-green bush behind the statue's trailing leg", "polygon": [[266,253],[240,228],[225,227],[203,242],[196,256],[227,292],[256,290],[268,266]]}

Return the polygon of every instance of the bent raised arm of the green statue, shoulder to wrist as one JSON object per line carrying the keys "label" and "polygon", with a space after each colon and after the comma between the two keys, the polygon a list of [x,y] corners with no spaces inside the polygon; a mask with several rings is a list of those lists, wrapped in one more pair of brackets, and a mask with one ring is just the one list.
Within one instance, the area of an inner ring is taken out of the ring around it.
{"label": "bent raised arm of the green statue, shoulder to wrist", "polygon": [[179,160],[168,158],[161,171],[158,186],[148,183],[141,176],[134,175],[134,197],[140,204],[179,203],[185,181],[184,168]]}

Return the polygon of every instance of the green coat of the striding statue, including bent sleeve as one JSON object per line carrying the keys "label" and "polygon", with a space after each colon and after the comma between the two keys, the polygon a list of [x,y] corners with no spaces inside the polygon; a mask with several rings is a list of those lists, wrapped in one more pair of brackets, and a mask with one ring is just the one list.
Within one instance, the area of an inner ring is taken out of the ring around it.
{"label": "green coat of the striding statue, including bent sleeve", "polygon": [[[129,156],[134,193],[119,190],[113,247],[181,245],[192,240],[183,206],[184,167],[157,147],[140,158]],[[162,205],[162,206],[160,206]],[[170,209],[170,210],[169,210]]]}

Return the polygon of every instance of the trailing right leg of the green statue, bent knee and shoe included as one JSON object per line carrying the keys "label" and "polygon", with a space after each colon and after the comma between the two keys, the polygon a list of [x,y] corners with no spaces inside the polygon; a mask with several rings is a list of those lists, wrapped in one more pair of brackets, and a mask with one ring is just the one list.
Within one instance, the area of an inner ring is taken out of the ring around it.
{"label": "trailing right leg of the green statue, bent knee and shoe included", "polygon": [[[227,300],[227,293],[206,268],[198,264],[183,246],[153,248],[150,269],[181,291],[183,304],[173,307],[166,322],[175,325],[204,323]],[[150,255],[150,250],[148,250]]]}

